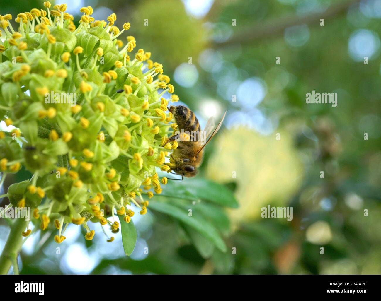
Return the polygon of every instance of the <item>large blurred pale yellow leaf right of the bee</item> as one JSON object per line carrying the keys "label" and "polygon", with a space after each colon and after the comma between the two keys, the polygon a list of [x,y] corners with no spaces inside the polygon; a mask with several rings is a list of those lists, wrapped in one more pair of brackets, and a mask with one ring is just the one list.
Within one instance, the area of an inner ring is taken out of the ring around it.
{"label": "large blurred pale yellow leaf right of the bee", "polygon": [[261,218],[261,208],[267,205],[287,206],[303,183],[303,166],[292,136],[277,132],[280,140],[275,133],[263,136],[244,127],[219,132],[216,137],[207,175],[216,182],[237,183],[240,207],[229,209],[235,225]]}

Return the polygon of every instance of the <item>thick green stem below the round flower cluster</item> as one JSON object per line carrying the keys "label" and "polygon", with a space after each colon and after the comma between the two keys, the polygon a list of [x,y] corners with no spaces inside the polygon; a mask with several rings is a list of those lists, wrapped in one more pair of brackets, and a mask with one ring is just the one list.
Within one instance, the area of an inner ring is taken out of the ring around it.
{"label": "thick green stem below the round flower cluster", "polygon": [[[22,235],[27,226],[27,221],[24,218],[17,218],[11,227],[5,247],[0,255],[0,275],[8,274],[12,263],[17,261],[18,253],[22,247]],[[14,271],[18,272],[18,271]]]}

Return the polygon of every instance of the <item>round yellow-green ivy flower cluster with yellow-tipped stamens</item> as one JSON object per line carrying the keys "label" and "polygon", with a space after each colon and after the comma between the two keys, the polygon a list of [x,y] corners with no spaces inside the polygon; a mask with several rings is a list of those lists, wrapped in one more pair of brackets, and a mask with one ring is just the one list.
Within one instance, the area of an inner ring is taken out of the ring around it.
{"label": "round yellow-green ivy flower cluster with yellow-tipped stamens", "polygon": [[[55,227],[57,243],[69,223],[91,240],[89,220],[115,233],[115,215],[129,223],[127,205],[145,214],[162,192],[167,178],[155,170],[170,171],[165,159],[178,144],[165,144],[177,127],[167,106],[179,98],[150,52],[136,51],[133,36],[118,39],[130,23],[120,30],[114,13],[95,20],[88,6],[76,27],[66,4],[44,6],[18,14],[17,31],[0,15],[0,113],[14,126],[0,132],[2,182],[22,166],[33,174],[3,196],[6,209],[29,207],[42,230]],[[30,232],[28,223],[22,235]]]}

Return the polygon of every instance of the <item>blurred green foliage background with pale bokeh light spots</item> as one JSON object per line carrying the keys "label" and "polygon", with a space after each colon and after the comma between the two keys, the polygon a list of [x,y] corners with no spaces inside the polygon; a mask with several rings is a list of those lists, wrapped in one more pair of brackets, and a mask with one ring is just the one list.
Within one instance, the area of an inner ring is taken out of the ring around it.
{"label": "blurred green foliage background with pale bokeh light spots", "polygon": [[[70,225],[59,252],[53,231],[26,240],[22,274],[380,274],[381,0],[65,3],[76,20],[91,5],[95,19],[115,12],[119,28],[130,22],[128,34],[164,65],[179,104],[202,126],[229,111],[197,177],[225,186],[239,207],[179,200],[210,219],[226,252],[176,217],[149,210],[134,217],[130,258],[120,235],[87,241]],[[43,6],[1,0],[0,7],[15,18]],[[337,93],[337,107],[306,104],[312,91]],[[23,170],[5,186],[28,176]],[[180,188],[187,180],[167,190]],[[293,207],[293,220],[262,218],[267,205]],[[1,219],[0,250],[8,233]]]}

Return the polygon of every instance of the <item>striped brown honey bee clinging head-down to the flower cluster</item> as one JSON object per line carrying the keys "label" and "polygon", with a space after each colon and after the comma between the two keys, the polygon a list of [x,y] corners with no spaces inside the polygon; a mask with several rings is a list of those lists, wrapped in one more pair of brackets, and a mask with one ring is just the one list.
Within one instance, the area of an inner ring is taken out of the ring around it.
{"label": "striped brown honey bee clinging head-down to the flower cluster", "polygon": [[[166,143],[176,140],[179,144],[171,154],[169,164],[171,171],[187,178],[194,177],[197,174],[197,168],[202,163],[204,147],[218,132],[226,112],[217,127],[215,127],[214,118],[211,117],[205,129],[201,131],[196,115],[189,108],[179,105],[171,106],[168,110],[174,116],[178,130],[168,138]],[[184,139],[184,135],[181,133],[186,133],[188,139]],[[182,139],[179,139],[180,137]]]}

